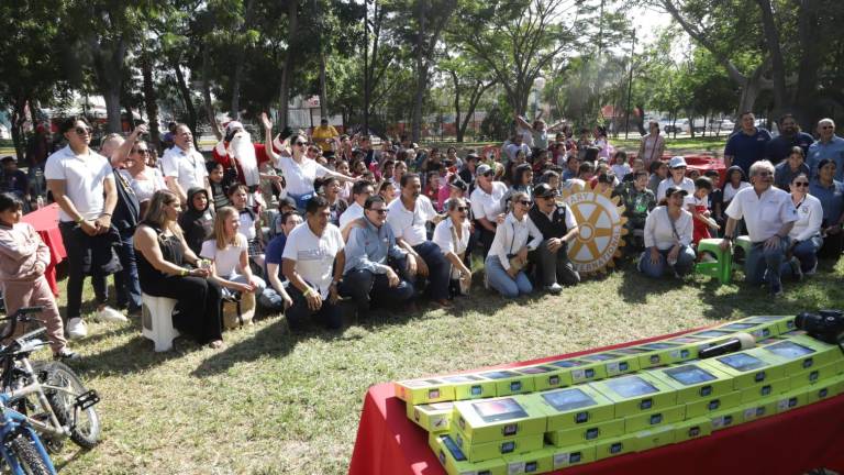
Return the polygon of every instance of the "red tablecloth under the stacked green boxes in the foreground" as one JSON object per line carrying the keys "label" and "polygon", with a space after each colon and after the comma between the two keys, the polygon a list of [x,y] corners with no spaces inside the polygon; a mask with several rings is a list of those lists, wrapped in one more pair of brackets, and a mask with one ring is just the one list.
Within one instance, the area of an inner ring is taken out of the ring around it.
{"label": "red tablecloth under the stacked green boxes in the foreground", "polygon": [[[499,367],[554,361],[666,336]],[[844,472],[844,396],[720,430],[692,441],[555,473],[797,475],[818,467]],[[444,473],[427,446],[427,432],[408,419],[404,402],[396,397],[392,384],[369,388],[357,429],[349,475]]]}

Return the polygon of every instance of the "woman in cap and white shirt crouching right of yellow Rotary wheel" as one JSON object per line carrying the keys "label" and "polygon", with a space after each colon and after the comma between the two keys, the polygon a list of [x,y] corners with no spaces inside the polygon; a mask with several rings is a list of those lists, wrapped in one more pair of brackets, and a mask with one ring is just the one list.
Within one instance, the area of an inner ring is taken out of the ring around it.
{"label": "woman in cap and white shirt crouching right of yellow Rotary wheel", "polygon": [[645,252],[638,259],[638,270],[659,278],[666,272],[681,277],[695,266],[691,244],[691,213],[682,209],[687,191],[670,186],[665,190],[665,206],[654,208],[645,220]]}

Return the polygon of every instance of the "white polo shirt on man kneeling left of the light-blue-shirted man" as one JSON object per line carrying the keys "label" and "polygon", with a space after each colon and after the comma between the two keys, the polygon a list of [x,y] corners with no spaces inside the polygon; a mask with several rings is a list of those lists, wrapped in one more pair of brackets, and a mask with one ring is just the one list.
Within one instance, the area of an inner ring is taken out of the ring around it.
{"label": "white polo shirt on man kneeling left of the light-blue-shirted man", "polygon": [[340,228],[329,223],[322,235],[316,236],[306,221],[290,231],[281,257],[296,261],[296,272],[308,284],[315,286],[325,299],[329,297],[334,258],[344,246]]}

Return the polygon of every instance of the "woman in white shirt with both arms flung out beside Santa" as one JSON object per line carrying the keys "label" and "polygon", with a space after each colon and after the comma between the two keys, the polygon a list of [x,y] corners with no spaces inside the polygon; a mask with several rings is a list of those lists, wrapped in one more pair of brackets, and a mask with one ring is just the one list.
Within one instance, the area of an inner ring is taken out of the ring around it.
{"label": "woman in white shirt with both arms flung out beside Santa", "polygon": [[316,191],[313,183],[316,178],[331,176],[341,181],[354,181],[354,178],[347,175],[332,172],[306,156],[308,150],[308,139],[302,134],[290,136],[290,146],[292,147],[290,156],[279,156],[273,147],[266,147],[267,155],[284,173],[287,195],[296,200],[296,208],[299,212],[304,212],[304,206],[309,199],[313,198]]}

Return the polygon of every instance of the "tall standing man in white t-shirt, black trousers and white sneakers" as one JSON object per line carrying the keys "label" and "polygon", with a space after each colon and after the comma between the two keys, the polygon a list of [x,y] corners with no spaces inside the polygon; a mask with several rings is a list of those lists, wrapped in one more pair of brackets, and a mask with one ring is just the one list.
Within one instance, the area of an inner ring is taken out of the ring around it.
{"label": "tall standing man in white t-shirt, black trousers and white sneakers", "polygon": [[[85,276],[93,274],[90,268],[96,244],[92,238],[109,232],[118,192],[108,158],[88,147],[91,142],[88,122],[84,118],[68,118],[62,123],[60,132],[67,146],[47,158],[44,178],[59,206],[58,229],[67,251],[67,334],[78,339],[88,334],[81,305]],[[101,286],[95,287],[97,301],[104,303]]]}

